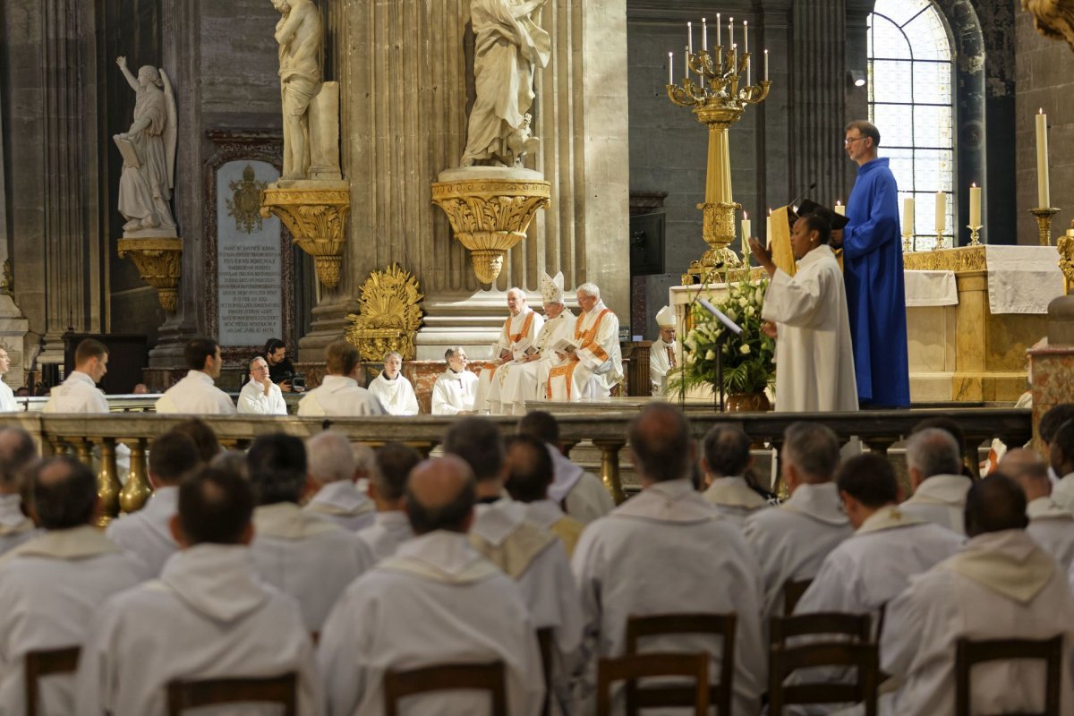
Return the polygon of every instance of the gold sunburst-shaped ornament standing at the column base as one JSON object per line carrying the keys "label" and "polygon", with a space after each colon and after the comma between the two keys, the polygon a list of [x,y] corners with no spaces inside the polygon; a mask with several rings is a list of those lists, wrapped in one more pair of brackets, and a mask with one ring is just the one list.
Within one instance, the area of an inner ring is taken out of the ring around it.
{"label": "gold sunburst-shaped ornament standing at the column base", "polygon": [[363,361],[382,361],[391,351],[413,360],[413,334],[421,325],[418,302],[423,297],[418,279],[398,264],[373,272],[362,284],[361,313],[347,316],[347,340]]}

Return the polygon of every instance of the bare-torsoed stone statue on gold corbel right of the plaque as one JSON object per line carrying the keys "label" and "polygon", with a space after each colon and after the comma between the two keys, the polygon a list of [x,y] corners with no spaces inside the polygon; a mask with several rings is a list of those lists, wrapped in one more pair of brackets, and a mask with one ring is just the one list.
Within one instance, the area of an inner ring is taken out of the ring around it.
{"label": "bare-torsoed stone statue on gold corbel right of the plaque", "polygon": [[310,0],[272,0],[280,13],[279,88],[284,104],[284,179],[309,177],[309,102],[321,89],[321,15]]}

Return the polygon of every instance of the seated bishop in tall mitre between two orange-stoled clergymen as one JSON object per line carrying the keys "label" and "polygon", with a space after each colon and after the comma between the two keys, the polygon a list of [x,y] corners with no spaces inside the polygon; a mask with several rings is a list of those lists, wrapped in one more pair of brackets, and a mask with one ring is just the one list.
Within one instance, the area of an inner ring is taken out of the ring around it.
{"label": "seated bishop in tall mitre between two orange-stoled clergymen", "polygon": [[526,400],[543,398],[548,392],[548,374],[558,359],[553,346],[562,338],[570,339],[575,331],[575,315],[563,303],[563,273],[555,278],[545,272],[540,276],[541,299],[545,305],[545,324],[537,334],[533,352],[500,367],[500,412],[525,415]]}

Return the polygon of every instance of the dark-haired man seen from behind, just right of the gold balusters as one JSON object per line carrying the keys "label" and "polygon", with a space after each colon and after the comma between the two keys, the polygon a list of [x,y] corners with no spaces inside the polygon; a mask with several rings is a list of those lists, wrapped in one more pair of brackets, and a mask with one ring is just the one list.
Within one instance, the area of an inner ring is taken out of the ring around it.
{"label": "dark-haired man seen from behind, just right of the gold balusters", "polygon": [[141,510],[119,515],[105,530],[110,540],[137,555],[153,576],[179,549],[171,526],[178,509],[179,483],[201,465],[198,447],[184,433],[169,430],[154,438],[149,445],[153,495]]}

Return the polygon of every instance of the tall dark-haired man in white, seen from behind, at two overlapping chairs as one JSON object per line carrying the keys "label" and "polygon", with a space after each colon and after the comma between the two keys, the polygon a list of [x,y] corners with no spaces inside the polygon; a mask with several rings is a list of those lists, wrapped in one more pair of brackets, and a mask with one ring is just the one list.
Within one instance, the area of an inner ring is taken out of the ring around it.
{"label": "tall dark-haired man in white, seen from behind, at two overlapping chairs", "polygon": [[[641,493],[589,525],[571,560],[582,595],[587,666],[576,713],[594,713],[596,659],[624,654],[629,616],[713,612],[737,616],[732,655],[722,655],[720,640],[701,634],[651,638],[641,651],[710,652],[713,681],[721,660],[732,658],[731,713],[754,716],[767,671],[757,561],[742,534],[694,488],[694,449],[680,411],[647,407],[630,425],[629,442]],[[622,698],[620,690],[620,708]]]}

